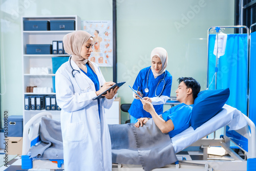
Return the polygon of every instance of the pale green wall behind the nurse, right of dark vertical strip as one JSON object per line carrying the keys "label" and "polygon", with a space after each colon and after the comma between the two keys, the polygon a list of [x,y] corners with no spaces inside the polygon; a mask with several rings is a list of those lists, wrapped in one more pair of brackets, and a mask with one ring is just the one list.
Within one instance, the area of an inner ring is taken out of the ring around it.
{"label": "pale green wall behind the nurse, right of dark vertical strip", "polygon": [[[233,24],[234,1],[121,1],[117,5],[118,81],[132,86],[139,70],[151,65],[151,51],[163,47],[168,53],[166,69],[173,75],[171,95],[176,96],[177,79],[182,76],[194,77],[205,90],[207,30]],[[131,92],[124,90],[119,91],[122,103],[131,103]]]}

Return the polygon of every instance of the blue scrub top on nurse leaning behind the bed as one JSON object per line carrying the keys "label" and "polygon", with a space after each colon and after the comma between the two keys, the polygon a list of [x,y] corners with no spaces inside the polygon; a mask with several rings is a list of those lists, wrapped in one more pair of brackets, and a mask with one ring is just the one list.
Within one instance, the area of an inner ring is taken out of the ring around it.
{"label": "blue scrub top on nurse leaning behind the bed", "polygon": [[[163,92],[161,95],[170,97],[170,89],[172,88],[172,81],[173,81],[172,75],[170,75],[170,73],[165,70],[165,72],[162,75],[159,75],[157,78],[155,78],[150,68],[151,66],[144,68],[139,72],[133,84],[133,89],[138,90],[138,87],[139,87],[139,91],[142,92],[143,97],[157,97],[158,95],[160,95],[162,90]],[[149,75],[148,75],[148,71],[150,71]],[[147,75],[148,75],[148,81],[147,81]],[[164,78],[164,75],[165,75],[165,78]],[[164,81],[159,82],[163,78],[165,80],[165,84],[164,84]],[[159,85],[157,88],[158,83]],[[148,93],[145,92],[146,84],[147,84],[147,89],[149,90]],[[164,89],[163,89],[163,86],[164,86]],[[157,88],[157,91],[156,91],[156,88]],[[163,113],[163,104],[154,105],[154,108],[158,115]],[[132,115],[137,119],[141,117],[152,118],[150,113],[143,110],[143,105],[141,101],[137,99],[133,100],[132,105],[128,112],[130,115]]]}

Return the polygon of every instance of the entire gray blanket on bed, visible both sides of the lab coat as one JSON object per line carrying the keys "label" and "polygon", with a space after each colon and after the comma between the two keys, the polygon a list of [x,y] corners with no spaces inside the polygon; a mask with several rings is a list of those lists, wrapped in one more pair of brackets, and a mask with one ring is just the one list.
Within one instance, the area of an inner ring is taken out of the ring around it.
{"label": "entire gray blanket on bed, visible both sides of the lab coat", "polygon": [[[134,124],[109,125],[112,162],[142,165],[144,170],[171,164],[176,158],[172,140],[158,129],[153,119],[142,127]],[[60,122],[42,117],[40,139],[29,152],[34,159],[63,159],[63,144]]]}

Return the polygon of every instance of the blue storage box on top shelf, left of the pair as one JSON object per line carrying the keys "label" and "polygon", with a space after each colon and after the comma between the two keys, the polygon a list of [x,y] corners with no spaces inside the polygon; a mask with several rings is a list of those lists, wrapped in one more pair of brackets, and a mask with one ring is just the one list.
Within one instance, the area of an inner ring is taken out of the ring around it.
{"label": "blue storage box on top shelf, left of the pair", "polygon": [[50,22],[47,20],[24,20],[24,31],[47,31],[50,30]]}

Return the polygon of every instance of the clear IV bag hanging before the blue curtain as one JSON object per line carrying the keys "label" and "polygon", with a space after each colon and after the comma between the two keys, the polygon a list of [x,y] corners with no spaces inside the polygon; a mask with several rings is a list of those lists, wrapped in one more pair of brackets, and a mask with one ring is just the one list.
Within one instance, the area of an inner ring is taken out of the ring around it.
{"label": "clear IV bag hanging before the blue curtain", "polygon": [[[218,34],[218,58],[220,56],[223,56],[225,54],[226,50],[226,44],[227,44],[227,34],[224,33],[219,33]],[[215,45],[214,45],[214,55],[216,56],[217,54],[217,35],[215,38]]]}

